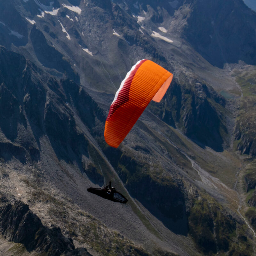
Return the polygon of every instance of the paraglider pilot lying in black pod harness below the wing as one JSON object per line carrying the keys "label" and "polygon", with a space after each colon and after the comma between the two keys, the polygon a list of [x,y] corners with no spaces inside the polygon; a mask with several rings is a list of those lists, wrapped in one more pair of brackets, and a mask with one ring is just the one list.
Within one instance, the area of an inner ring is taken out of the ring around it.
{"label": "paraglider pilot lying in black pod harness below the wing", "polygon": [[122,204],[126,204],[128,200],[121,193],[116,191],[116,188],[111,187],[111,181],[109,181],[109,185],[105,188],[87,188],[87,191],[93,193],[97,196],[101,196],[105,199],[111,200],[113,202],[118,202]]}

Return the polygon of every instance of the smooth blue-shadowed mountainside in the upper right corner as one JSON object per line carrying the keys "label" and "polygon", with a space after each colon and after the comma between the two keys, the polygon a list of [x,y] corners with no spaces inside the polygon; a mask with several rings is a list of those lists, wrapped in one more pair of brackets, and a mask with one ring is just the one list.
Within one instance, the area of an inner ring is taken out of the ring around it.
{"label": "smooth blue-shadowed mountainside in the upper right corner", "polygon": [[190,12],[183,36],[206,60],[220,68],[238,60],[256,64],[256,13],[242,0],[224,6],[215,0],[186,2]]}

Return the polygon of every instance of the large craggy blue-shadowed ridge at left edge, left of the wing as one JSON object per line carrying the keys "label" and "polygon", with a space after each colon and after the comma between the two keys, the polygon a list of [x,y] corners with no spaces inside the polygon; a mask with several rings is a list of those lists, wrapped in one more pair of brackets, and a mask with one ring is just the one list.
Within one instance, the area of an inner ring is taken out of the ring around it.
{"label": "large craggy blue-shadowed ridge at left edge, left of the wing", "polygon": [[[0,156],[6,161],[14,156],[23,164],[27,158],[39,161],[40,137],[46,135],[59,159],[76,161],[83,171],[82,157],[89,157],[88,140],[74,112],[97,135],[96,124],[102,130],[106,118],[103,110],[82,86],[69,79],[49,78],[20,54],[1,47],[0,60],[0,128],[11,141],[0,145]],[[28,136],[23,136],[24,131]],[[98,178],[102,183],[102,177]]]}

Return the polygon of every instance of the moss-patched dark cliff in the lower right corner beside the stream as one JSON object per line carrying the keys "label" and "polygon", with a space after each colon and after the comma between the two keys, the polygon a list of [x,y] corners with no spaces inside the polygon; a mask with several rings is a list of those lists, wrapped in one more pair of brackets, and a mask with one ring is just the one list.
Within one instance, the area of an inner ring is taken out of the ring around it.
{"label": "moss-patched dark cliff in the lower right corner beside the stream", "polygon": [[204,255],[252,255],[245,227],[210,196],[201,195],[194,200],[188,220],[189,234]]}

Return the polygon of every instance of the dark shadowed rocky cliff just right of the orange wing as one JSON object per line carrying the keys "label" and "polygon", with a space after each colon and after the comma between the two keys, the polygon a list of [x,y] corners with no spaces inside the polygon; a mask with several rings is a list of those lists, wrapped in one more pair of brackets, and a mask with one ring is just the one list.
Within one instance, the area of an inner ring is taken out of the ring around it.
{"label": "dark shadowed rocky cliff just right of the orange wing", "polygon": [[224,106],[225,99],[211,87],[196,80],[185,84],[174,80],[164,100],[160,104],[152,103],[150,109],[200,146],[221,151],[227,129],[218,109]]}

